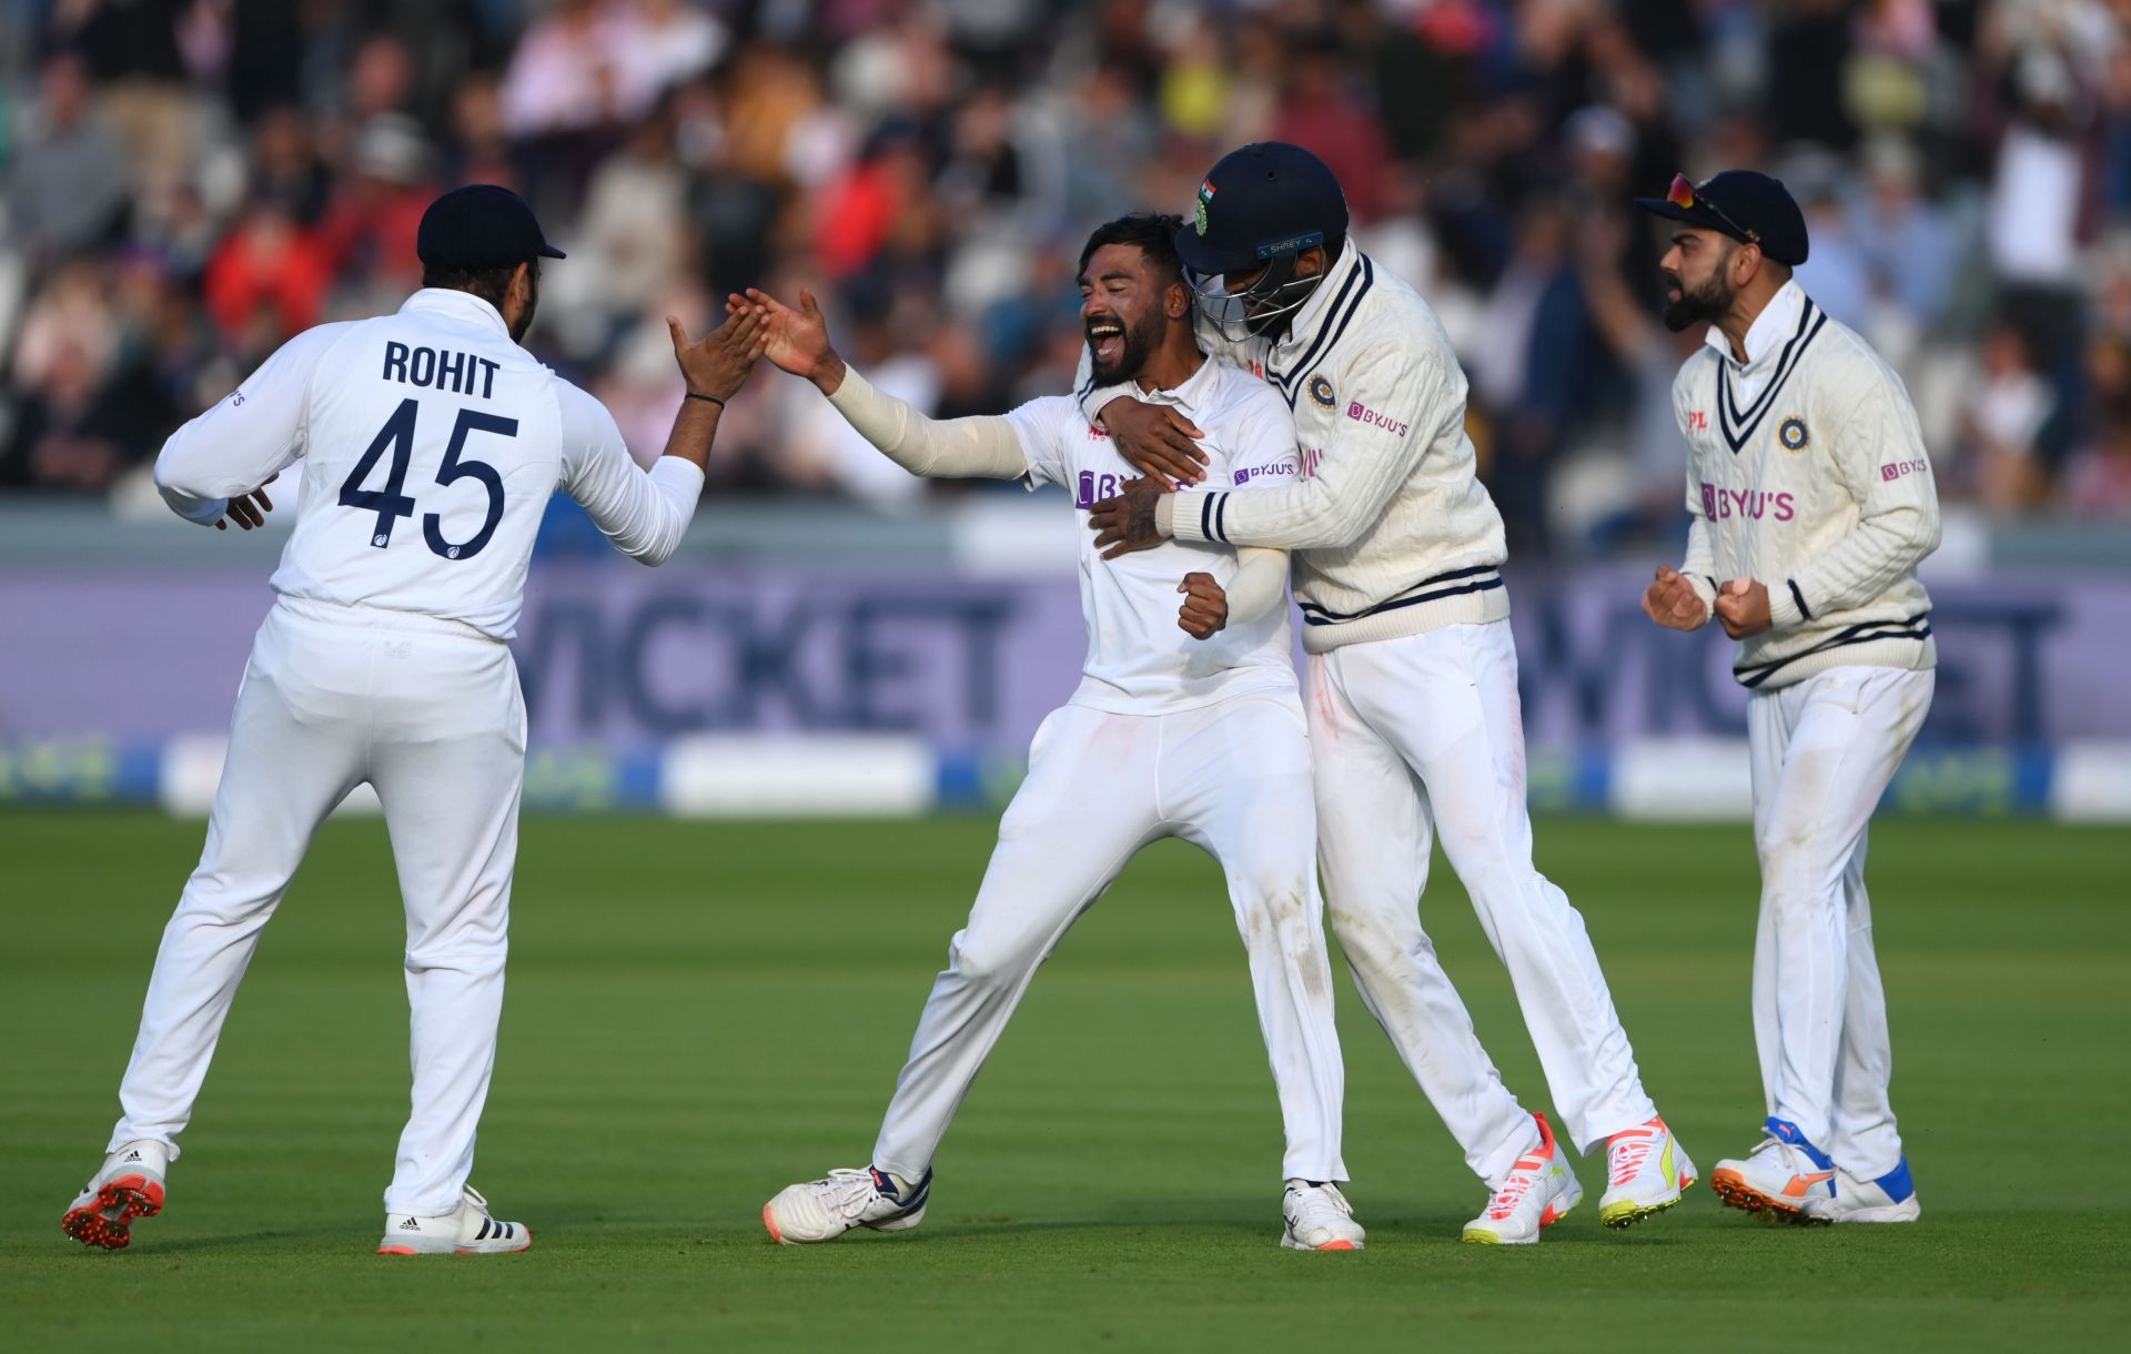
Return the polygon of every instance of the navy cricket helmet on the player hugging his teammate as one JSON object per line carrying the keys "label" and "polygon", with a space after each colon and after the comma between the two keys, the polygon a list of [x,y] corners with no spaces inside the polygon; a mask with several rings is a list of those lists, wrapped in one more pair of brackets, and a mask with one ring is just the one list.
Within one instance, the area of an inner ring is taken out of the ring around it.
{"label": "navy cricket helmet on the player hugging his teammate", "polygon": [[1347,194],[1332,168],[1300,145],[1257,141],[1206,173],[1176,254],[1198,275],[1242,273],[1345,232]]}

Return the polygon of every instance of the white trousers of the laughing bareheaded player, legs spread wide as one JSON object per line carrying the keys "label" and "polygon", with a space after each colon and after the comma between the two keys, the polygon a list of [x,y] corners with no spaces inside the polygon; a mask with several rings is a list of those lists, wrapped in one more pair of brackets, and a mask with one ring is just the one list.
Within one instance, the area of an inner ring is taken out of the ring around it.
{"label": "white trousers of the laughing bareheaded player, legs spread wide", "polygon": [[1315,870],[1311,753],[1294,697],[1238,695],[1181,714],[1053,710],[999,819],[967,925],[948,942],[874,1166],[931,1168],[940,1139],[1036,968],[1140,847],[1178,836],[1227,876],[1257,1023],[1287,1126],[1283,1175],[1347,1179],[1347,1070]]}

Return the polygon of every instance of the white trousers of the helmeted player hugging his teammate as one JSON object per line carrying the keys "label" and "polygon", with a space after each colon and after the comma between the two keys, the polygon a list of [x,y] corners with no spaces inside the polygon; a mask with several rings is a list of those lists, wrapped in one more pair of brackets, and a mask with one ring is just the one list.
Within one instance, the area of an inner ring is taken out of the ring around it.
{"label": "white trousers of the helmeted player hugging his teammate", "polygon": [[1436,834],[1509,968],[1547,1090],[1577,1149],[1645,1124],[1628,1034],[1583,917],[1532,866],[1524,716],[1507,620],[1311,655],[1317,853],[1355,987],[1466,1164],[1500,1188],[1539,1126],[1502,1085],[1421,930]]}

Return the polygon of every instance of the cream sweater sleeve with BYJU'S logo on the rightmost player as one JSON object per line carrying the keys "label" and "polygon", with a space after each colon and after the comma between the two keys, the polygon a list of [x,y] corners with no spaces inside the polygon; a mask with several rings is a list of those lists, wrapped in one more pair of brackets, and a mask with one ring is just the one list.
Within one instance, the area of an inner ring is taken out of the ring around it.
{"label": "cream sweater sleeve with BYJU'S logo on the rightmost player", "polygon": [[1858,525],[1782,586],[1767,584],[1773,629],[1865,606],[1939,548],[1931,456],[1916,407],[1892,373],[1869,375],[1831,450],[1835,473],[1858,505]]}

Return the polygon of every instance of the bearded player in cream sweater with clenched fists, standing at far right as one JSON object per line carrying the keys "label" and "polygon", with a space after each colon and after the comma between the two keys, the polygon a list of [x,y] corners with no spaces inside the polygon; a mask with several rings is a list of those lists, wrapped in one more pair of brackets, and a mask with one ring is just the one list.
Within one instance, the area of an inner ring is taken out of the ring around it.
{"label": "bearded player in cream sweater with clenched fists, standing at far right", "polygon": [[1643,610],[1673,629],[1722,620],[1752,693],[1769,1119],[1709,1183],[1790,1222],[1912,1222],[1865,838],[1931,708],[1937,648],[1916,580],[1939,544],[1931,458],[1901,377],[1790,279],[1807,235],[1782,183],[1681,175],[1637,203],[1679,222],[1664,322],[1709,324],[1673,382],[1688,559],[1658,569]]}

